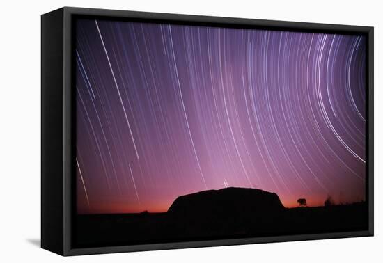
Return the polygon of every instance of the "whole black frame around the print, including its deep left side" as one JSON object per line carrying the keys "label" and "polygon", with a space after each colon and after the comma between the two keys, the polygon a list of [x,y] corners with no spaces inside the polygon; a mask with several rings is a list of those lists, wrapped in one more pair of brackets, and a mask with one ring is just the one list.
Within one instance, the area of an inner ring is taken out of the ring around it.
{"label": "whole black frame around the print, including its deep left side", "polygon": [[[368,230],[253,237],[209,241],[187,241],[134,246],[74,248],[72,216],[75,207],[75,111],[72,88],[73,21],[76,17],[102,17],[129,21],[163,22],[249,29],[274,29],[311,33],[366,35],[366,201]],[[337,24],[282,22],[260,19],[206,17],[64,7],[41,17],[41,246],[60,255],[117,253],[140,250],[226,246],[311,239],[366,237],[373,235],[373,27]]]}

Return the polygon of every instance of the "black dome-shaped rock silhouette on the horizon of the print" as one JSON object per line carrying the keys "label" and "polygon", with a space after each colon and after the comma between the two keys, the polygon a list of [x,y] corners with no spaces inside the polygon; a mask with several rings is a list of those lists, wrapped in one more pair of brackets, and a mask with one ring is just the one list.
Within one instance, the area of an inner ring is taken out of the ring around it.
{"label": "black dome-shaped rock silhouette on the horizon of the print", "polygon": [[268,218],[284,210],[276,193],[230,187],[179,196],[168,213],[182,217],[252,216]]}

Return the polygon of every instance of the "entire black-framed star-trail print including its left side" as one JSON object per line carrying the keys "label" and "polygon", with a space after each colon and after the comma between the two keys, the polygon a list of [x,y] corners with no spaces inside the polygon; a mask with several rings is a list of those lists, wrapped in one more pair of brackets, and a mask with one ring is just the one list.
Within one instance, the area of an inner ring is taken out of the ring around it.
{"label": "entire black-framed star-trail print including its left side", "polygon": [[42,248],[373,235],[373,28],[42,15]]}

